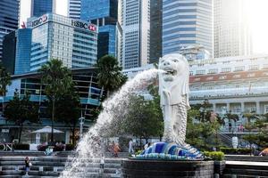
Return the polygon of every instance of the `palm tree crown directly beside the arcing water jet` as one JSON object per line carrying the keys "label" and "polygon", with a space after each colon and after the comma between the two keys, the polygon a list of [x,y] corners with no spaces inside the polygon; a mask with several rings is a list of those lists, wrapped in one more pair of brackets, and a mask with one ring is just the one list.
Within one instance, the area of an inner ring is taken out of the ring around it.
{"label": "palm tree crown directly beside the arcing water jet", "polygon": [[126,82],[127,77],[121,74],[118,61],[110,55],[105,55],[96,61],[98,85],[104,87],[109,97],[113,92]]}

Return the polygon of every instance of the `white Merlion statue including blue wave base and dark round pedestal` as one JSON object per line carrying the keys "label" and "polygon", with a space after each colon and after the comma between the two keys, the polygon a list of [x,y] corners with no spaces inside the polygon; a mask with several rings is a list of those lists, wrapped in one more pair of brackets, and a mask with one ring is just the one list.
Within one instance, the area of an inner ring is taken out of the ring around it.
{"label": "white Merlion statue including blue wave base and dark round pedestal", "polygon": [[159,61],[159,93],[163,110],[163,142],[122,161],[123,177],[213,177],[214,162],[185,142],[188,104],[188,61],[168,54]]}

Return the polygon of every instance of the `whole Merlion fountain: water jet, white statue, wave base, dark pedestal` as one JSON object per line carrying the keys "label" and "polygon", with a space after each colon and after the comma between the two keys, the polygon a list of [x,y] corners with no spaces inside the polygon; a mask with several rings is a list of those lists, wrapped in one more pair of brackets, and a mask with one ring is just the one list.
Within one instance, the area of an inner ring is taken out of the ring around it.
{"label": "whole Merlion fountain: water jet, white statue, wave base, dark pedestal", "polygon": [[89,177],[87,167],[103,155],[106,125],[120,122],[116,116],[127,112],[130,95],[159,74],[159,93],[163,109],[163,142],[156,142],[136,158],[122,161],[122,177],[212,177],[214,162],[185,143],[188,104],[188,61],[180,54],[168,54],[159,61],[159,69],[138,74],[103,103],[96,125],[89,129],[69,158],[62,178]]}

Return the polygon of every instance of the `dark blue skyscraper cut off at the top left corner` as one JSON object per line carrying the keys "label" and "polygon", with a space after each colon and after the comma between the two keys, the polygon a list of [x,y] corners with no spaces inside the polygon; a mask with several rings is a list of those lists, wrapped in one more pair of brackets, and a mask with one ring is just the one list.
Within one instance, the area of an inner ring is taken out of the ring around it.
{"label": "dark blue skyscraper cut off at the top left corner", "polygon": [[3,57],[3,38],[18,28],[19,6],[18,0],[0,1],[0,61]]}

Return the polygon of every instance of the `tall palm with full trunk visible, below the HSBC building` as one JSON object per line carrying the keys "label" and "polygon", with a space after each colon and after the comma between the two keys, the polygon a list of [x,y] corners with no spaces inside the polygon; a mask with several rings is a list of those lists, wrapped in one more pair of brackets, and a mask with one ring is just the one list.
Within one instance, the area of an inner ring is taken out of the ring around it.
{"label": "tall palm with full trunk visible, below the HSBC building", "polygon": [[47,63],[39,69],[39,72],[41,73],[41,83],[45,85],[46,97],[48,101],[52,103],[51,142],[54,142],[55,103],[71,88],[71,70],[63,67],[62,61],[53,59],[51,61],[47,61]]}

